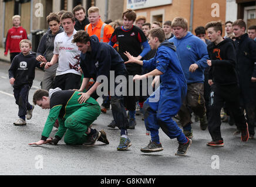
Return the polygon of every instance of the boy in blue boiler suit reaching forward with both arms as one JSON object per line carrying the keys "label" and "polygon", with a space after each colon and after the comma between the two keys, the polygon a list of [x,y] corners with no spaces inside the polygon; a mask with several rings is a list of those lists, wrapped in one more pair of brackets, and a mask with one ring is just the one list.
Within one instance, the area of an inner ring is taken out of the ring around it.
{"label": "boy in blue boiler suit reaching forward with both arms", "polygon": [[[160,75],[161,84],[150,95],[143,105],[144,122],[150,131],[151,141],[148,146],[141,149],[144,153],[162,151],[159,140],[159,127],[170,138],[177,138],[179,146],[176,155],[185,155],[192,141],[184,136],[177,123],[171,119],[177,115],[182,99],[187,92],[187,82],[183,74],[180,61],[173,43],[165,40],[163,29],[152,29],[149,33],[151,49],[157,49],[156,56],[150,60],[137,60],[129,53],[124,53],[129,58],[126,63],[137,63],[151,72],[144,75],[135,75],[133,80],[145,79],[148,76]],[[152,71],[153,70],[153,71]],[[159,99],[157,99],[159,98]]]}

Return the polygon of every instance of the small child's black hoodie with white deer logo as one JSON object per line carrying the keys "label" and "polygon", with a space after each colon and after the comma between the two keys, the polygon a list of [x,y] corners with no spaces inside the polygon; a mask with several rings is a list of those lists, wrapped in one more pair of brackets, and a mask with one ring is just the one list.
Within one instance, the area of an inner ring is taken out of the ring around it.
{"label": "small child's black hoodie with white deer logo", "polygon": [[9,68],[9,78],[15,78],[14,87],[20,87],[25,84],[32,86],[33,79],[35,78],[35,67],[41,68],[40,64],[36,60],[36,53],[31,52],[27,56],[19,53]]}

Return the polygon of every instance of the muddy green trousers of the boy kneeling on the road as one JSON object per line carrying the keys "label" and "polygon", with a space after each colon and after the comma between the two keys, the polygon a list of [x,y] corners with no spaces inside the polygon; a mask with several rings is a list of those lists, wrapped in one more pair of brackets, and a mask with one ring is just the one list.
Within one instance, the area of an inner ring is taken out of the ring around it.
{"label": "muddy green trousers of the boy kneeling on the road", "polygon": [[80,145],[85,143],[87,141],[86,131],[99,115],[100,106],[91,105],[86,107],[83,106],[76,110],[76,112],[72,113],[65,122],[59,120],[60,123],[64,123],[63,130],[66,130],[64,137],[65,143],[70,145]]}

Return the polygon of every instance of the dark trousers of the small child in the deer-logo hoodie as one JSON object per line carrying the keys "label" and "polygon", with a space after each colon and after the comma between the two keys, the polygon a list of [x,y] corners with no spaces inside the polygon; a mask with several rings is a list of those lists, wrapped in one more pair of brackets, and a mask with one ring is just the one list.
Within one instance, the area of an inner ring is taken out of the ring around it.
{"label": "dark trousers of the small child in the deer-logo hoodie", "polygon": [[28,84],[23,86],[14,86],[15,103],[19,106],[18,116],[25,116],[26,110],[31,109],[32,105],[28,102],[28,93],[30,86]]}

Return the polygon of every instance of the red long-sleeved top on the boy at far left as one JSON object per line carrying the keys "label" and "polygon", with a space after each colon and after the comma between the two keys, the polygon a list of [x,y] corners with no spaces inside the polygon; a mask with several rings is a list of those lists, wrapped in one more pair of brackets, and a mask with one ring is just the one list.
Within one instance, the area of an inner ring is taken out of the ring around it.
{"label": "red long-sleeved top on the boy at far left", "polygon": [[28,39],[26,35],[26,30],[23,27],[12,27],[8,30],[5,42],[5,54],[8,53],[19,53],[21,50],[19,49],[19,42],[23,39]]}

